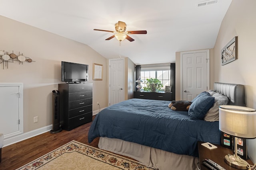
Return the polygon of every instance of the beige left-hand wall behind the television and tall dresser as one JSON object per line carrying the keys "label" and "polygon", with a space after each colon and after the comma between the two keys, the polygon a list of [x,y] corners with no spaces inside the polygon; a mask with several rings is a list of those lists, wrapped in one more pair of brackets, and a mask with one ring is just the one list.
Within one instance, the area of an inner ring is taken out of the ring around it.
{"label": "beige left-hand wall behind the television and tall dresser", "polygon": [[[61,82],[61,61],[89,65],[93,111],[107,106],[107,60],[88,45],[0,16],[0,50],[23,53],[32,63],[0,64],[0,82],[24,83],[24,132],[52,124],[52,90]],[[86,37],[84,37],[86,38]],[[103,80],[92,80],[92,64],[103,64]],[[38,116],[38,123],[33,117]]]}

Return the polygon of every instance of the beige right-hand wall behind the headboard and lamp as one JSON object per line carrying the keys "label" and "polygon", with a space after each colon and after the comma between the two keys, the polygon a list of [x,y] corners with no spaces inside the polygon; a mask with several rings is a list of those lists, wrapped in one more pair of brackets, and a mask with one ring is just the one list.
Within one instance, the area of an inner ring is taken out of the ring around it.
{"label": "beige right-hand wall behind the headboard and lamp", "polygon": [[[256,109],[256,1],[233,0],[214,46],[214,81],[244,84],[248,107]],[[221,66],[220,51],[238,36],[238,59]],[[255,122],[256,123],[256,122]],[[256,162],[256,139],[248,141],[248,154]]]}

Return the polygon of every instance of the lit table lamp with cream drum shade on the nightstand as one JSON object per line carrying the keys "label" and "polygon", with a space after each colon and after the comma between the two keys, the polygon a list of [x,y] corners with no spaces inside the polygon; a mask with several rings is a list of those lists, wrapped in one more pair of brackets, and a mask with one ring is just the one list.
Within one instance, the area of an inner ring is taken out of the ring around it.
{"label": "lit table lamp with cream drum shade on the nightstand", "polygon": [[256,110],[242,106],[220,106],[219,129],[234,136],[235,153],[226,155],[225,162],[234,168],[246,170],[250,165],[237,155],[237,141],[238,138],[256,138]]}

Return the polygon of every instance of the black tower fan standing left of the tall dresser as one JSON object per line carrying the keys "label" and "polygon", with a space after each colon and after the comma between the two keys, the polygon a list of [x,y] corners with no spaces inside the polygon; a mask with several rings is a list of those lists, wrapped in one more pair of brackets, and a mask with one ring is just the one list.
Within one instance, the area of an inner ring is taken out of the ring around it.
{"label": "black tower fan standing left of the tall dresser", "polygon": [[60,128],[60,92],[52,90],[52,130],[50,133],[59,133]]}

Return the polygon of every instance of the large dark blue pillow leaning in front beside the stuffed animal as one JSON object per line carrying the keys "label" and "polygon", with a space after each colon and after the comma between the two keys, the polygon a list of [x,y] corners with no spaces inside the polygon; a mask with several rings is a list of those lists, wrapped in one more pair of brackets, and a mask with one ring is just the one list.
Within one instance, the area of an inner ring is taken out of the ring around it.
{"label": "large dark blue pillow leaning in front beside the stuffed animal", "polygon": [[206,115],[207,111],[214,104],[214,97],[211,96],[200,96],[192,102],[188,109],[189,118],[192,120],[201,120]]}

